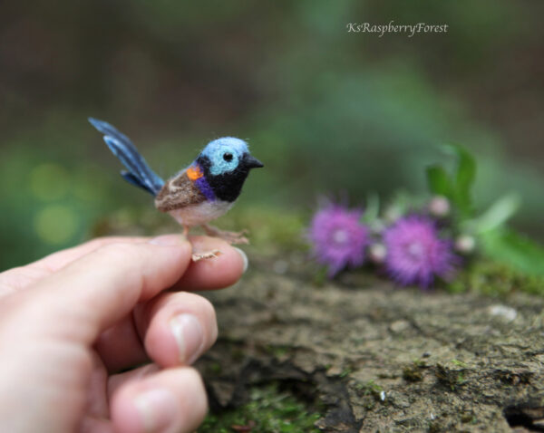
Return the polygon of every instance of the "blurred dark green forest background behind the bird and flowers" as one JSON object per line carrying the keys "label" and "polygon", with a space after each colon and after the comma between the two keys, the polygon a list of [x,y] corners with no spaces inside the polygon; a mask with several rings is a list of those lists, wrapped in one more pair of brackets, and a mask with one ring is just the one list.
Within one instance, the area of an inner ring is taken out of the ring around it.
{"label": "blurred dark green forest background behind the bird and flowers", "polygon": [[[424,167],[443,159],[435,145],[463,143],[479,159],[477,203],[520,192],[514,226],[543,240],[543,13],[507,0],[5,0],[0,269],[152,209],[88,116],[129,135],[164,177],[209,140],[248,139],[266,168],[241,213],[423,191]],[[449,32],[346,31],[391,20]]]}

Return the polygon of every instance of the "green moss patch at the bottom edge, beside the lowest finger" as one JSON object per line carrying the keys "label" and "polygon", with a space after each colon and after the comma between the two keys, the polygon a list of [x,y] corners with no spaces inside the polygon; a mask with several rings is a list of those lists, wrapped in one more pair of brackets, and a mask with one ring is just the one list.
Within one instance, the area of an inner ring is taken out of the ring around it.
{"label": "green moss patch at the bottom edge, beside the lowest finger", "polygon": [[[303,402],[272,384],[251,390],[250,401],[238,409],[209,414],[198,432],[317,433],[319,430],[314,424],[320,417],[318,413],[307,409]],[[244,430],[244,426],[248,428]]]}

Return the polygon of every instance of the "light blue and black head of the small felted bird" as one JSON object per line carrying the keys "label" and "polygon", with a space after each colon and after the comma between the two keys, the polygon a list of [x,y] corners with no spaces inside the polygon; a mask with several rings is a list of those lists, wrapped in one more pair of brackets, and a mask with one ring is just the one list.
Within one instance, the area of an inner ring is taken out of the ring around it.
{"label": "light blue and black head of the small felted bird", "polygon": [[249,154],[248,143],[234,137],[210,141],[197,163],[216,196],[227,201],[238,197],[251,168],[263,167]]}

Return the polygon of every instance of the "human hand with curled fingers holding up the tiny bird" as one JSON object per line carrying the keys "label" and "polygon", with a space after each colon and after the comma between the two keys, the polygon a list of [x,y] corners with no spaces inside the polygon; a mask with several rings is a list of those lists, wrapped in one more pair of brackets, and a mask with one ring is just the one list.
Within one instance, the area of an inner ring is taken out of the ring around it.
{"label": "human hand with curled fingers holding up the tiny bird", "polygon": [[226,287],[247,259],[216,238],[191,242],[222,254],[192,263],[182,236],[103,238],[0,274],[2,430],[197,428],[207,400],[188,365],[215,342],[215,312],[163,290]]}

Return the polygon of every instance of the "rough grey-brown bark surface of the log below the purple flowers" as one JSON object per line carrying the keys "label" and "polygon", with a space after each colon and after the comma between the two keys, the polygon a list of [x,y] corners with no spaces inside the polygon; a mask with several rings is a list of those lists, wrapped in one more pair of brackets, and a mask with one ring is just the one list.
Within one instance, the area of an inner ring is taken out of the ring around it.
{"label": "rough grey-brown bark surface of the log below the purple flowers", "polygon": [[543,299],[312,281],[254,259],[242,282],[205,294],[219,341],[197,366],[212,409],[277,381],[323,431],[544,431]]}

